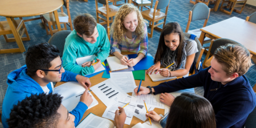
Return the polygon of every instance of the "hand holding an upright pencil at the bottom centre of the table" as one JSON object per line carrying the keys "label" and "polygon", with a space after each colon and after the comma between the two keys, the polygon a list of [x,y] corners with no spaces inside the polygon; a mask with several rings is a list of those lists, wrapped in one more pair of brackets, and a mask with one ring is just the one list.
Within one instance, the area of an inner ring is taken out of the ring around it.
{"label": "hand holding an upright pencil at the bottom centre of the table", "polygon": [[125,122],[125,119],[126,119],[126,114],[125,114],[124,108],[118,107],[118,109],[121,110],[121,113],[120,113],[119,110],[116,110],[115,118],[114,118],[115,125],[116,125],[117,128],[123,128],[124,127],[124,122]]}

